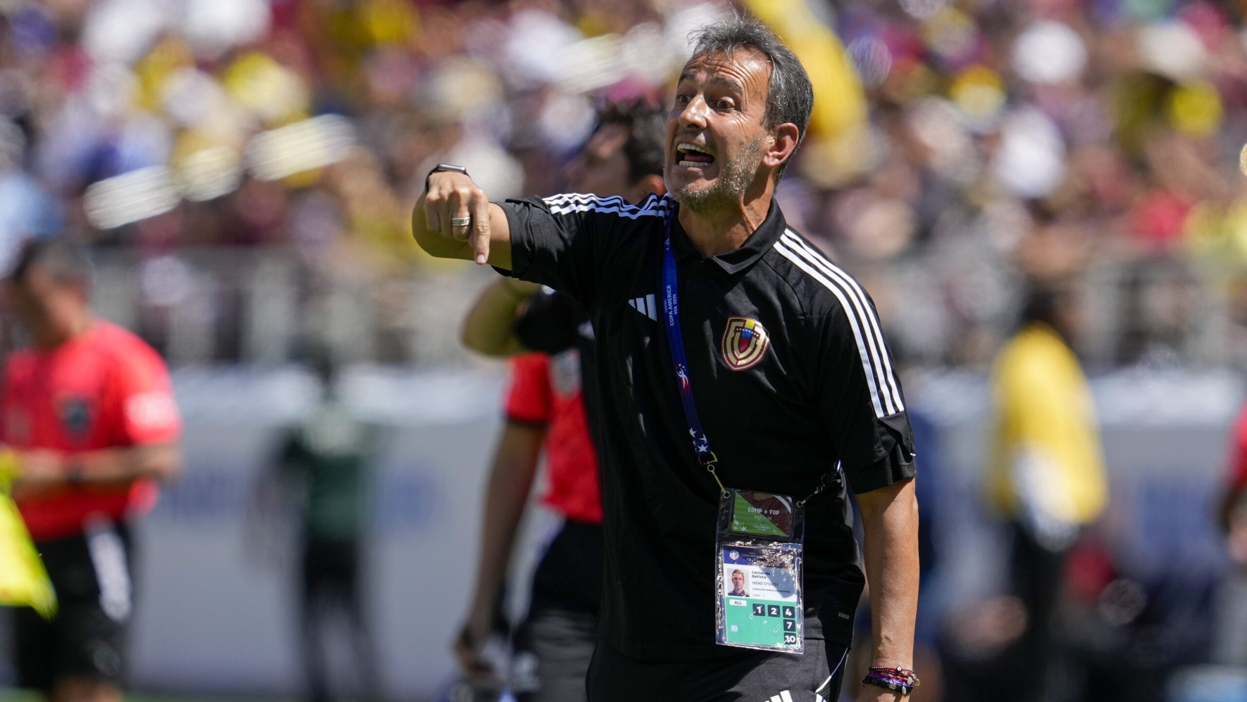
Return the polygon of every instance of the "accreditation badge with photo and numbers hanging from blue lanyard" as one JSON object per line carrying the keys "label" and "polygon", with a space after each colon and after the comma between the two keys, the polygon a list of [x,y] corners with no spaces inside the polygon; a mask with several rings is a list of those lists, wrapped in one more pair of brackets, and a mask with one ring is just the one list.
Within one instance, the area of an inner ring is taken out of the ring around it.
{"label": "accreditation badge with photo and numbers hanging from blue lanyard", "polygon": [[788,495],[726,490],[718,506],[716,641],[804,653],[804,509]]}

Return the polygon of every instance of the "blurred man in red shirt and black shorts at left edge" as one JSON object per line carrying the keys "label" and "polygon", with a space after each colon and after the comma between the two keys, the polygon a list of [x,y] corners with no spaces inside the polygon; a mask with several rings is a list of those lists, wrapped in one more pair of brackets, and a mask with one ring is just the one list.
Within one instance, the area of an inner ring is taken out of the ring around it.
{"label": "blurred man in red shirt and black shorts at left edge", "polygon": [[31,348],[9,357],[0,441],[21,451],[12,494],[60,612],[17,611],[21,687],[54,702],[121,700],[132,617],[130,521],[181,468],[168,370],[91,314],[90,264],[65,241],[29,243],[7,282]]}

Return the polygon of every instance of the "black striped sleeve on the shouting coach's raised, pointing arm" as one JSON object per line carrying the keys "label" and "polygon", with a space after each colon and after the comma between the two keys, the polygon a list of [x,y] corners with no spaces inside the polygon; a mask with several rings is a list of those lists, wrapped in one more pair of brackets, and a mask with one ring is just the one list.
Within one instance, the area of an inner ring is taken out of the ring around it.
{"label": "black striped sleeve on the shouting coach's raised, pointing arm", "polygon": [[651,195],[641,204],[622,197],[559,195],[498,203],[511,231],[511,271],[522,281],[565,292],[591,309],[610,259],[638,222],[665,217],[667,201]]}

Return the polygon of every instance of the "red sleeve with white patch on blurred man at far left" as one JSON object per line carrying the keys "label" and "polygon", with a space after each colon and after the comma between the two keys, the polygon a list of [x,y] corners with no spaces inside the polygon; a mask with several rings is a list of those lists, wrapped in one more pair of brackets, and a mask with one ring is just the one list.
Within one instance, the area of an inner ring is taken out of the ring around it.
{"label": "red sleeve with white patch on blurred man at far left", "polygon": [[125,445],[168,444],[182,434],[182,418],[165,362],[150,348],[118,354],[115,400]]}

